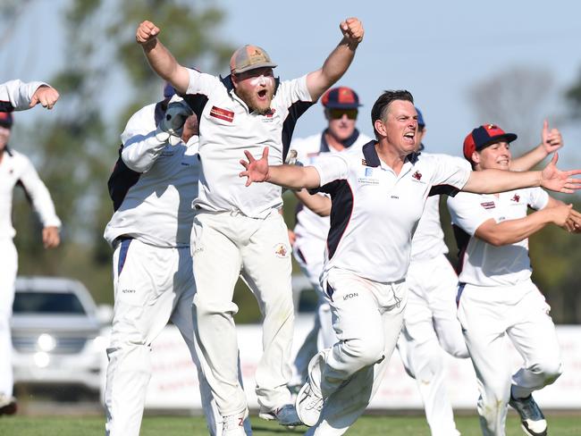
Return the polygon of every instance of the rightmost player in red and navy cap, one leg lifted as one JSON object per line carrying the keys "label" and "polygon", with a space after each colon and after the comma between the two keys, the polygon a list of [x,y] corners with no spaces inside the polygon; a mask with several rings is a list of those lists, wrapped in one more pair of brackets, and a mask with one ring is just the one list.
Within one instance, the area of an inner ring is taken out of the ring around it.
{"label": "rightmost player in red and navy cap, one leg lifted", "polygon": [[[464,156],[473,173],[508,173],[516,138],[493,124],[472,130]],[[528,237],[549,224],[579,232],[581,214],[533,187],[462,193],[449,198],[448,207],[460,250],[459,321],[478,378],[482,432],[504,436],[509,404],[526,434],[544,436],[547,423],[531,394],[557,380],[562,363],[550,306],[531,281]],[[536,212],[527,214],[528,207]],[[523,357],[512,374],[508,340]]]}

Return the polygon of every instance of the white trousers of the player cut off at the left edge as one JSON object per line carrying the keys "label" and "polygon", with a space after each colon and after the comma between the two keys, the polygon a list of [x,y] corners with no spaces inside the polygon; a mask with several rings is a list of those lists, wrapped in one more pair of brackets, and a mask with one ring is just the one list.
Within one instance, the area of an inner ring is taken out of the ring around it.
{"label": "white trousers of the player cut off at the left edge", "polygon": [[13,342],[10,318],[13,314],[14,282],[18,253],[12,238],[0,238],[0,394],[13,396]]}

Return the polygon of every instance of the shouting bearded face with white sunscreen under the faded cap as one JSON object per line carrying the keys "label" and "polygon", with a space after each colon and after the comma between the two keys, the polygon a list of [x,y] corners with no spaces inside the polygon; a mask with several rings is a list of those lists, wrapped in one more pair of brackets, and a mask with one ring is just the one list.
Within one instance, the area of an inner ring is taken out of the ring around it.
{"label": "shouting bearded face with white sunscreen under the faded cap", "polygon": [[274,74],[272,68],[232,74],[236,95],[248,105],[251,111],[267,113],[274,96]]}

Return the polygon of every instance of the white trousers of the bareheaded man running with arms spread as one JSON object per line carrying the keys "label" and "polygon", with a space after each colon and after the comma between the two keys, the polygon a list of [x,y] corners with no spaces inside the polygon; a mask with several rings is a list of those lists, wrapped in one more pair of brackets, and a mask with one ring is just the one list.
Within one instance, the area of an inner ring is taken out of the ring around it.
{"label": "white trousers of the bareheaded man running with arms spread", "polygon": [[324,398],[321,418],[307,435],[336,436],[358,419],[383,379],[403,324],[405,281],[378,283],[333,269],[323,289],[338,342],[309,365],[309,382]]}

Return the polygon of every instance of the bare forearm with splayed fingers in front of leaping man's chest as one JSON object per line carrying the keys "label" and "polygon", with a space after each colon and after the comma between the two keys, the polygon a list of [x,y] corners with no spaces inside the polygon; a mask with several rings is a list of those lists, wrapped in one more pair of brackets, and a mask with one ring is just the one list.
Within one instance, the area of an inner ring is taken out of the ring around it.
{"label": "bare forearm with splayed fingers in front of leaping man's chest", "polygon": [[240,177],[246,177],[246,186],[253,181],[274,183],[290,189],[318,188],[321,185],[319,173],[313,166],[298,165],[268,165],[268,147],[265,147],[260,159],[244,150],[248,162],[240,160],[245,171],[240,172]]}

